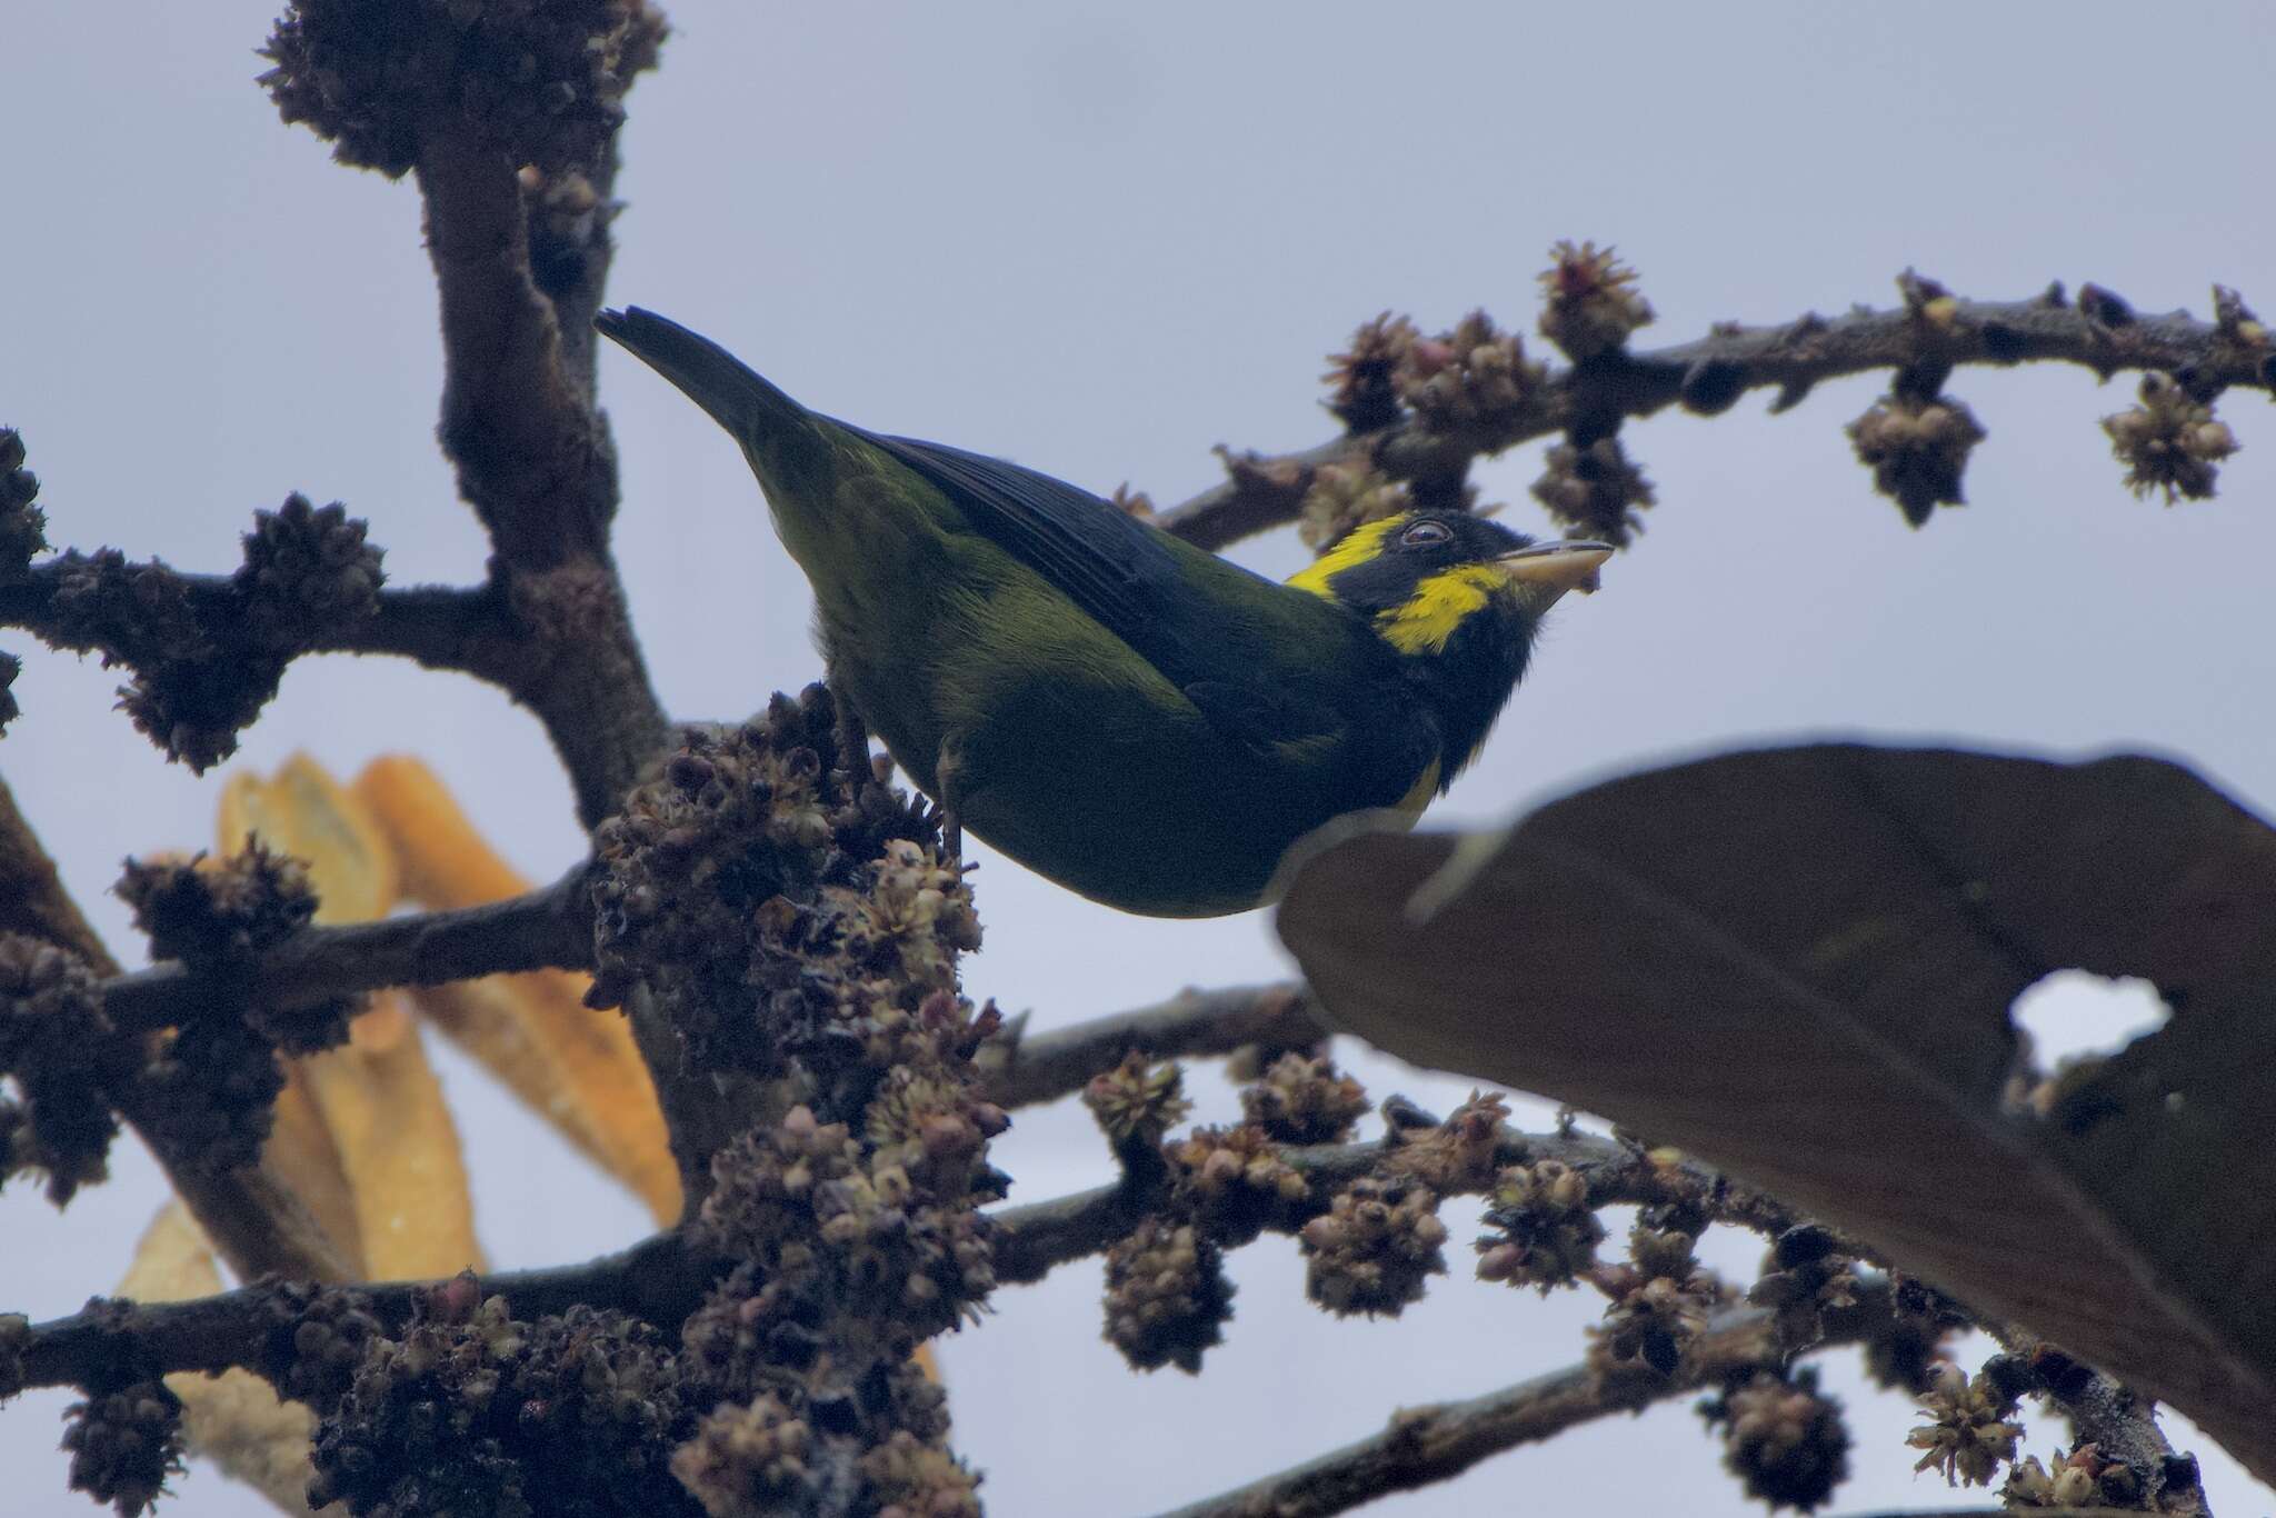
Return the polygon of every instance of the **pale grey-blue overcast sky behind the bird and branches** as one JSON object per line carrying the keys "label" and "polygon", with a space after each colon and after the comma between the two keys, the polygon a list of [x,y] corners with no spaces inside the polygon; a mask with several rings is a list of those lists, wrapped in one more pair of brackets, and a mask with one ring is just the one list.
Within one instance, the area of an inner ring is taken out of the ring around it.
{"label": "pale grey-blue overcast sky behind the bird and branches", "polygon": [[[414,189],[346,173],[255,89],[275,0],[23,5],[0,91],[11,234],[0,421],[20,426],[57,544],[225,571],[255,508],[300,489],[371,519],[396,583],[480,576],[483,542],[432,446],[439,344]],[[1320,355],[1384,310],[1443,328],[1484,305],[1532,332],[1559,237],[1618,244],[1659,325],[1887,305],[1907,264],[1985,298],[2098,280],[2142,310],[2262,310],[2276,212],[2276,18],[2142,5],[1188,5],[790,7],[678,0],[624,134],[612,298],[726,341],[799,398],[876,428],[1013,455],[1158,503],[1220,471],[1211,444],[1331,432]],[[2276,312],[2271,312],[2276,314]],[[624,457],[617,548],[667,706],[735,717],[817,674],[808,594],[733,444],[637,364],[603,360]],[[2119,485],[2096,419],[2130,401],[2071,369],[1962,371],[1989,428],[1971,505],[1905,528],[1841,423],[1875,380],[1796,412],[1762,401],[1627,432],[1659,489],[1639,551],[1552,621],[1479,767],[1434,822],[1493,822],[1589,778],[1807,733],[1964,737],[2064,756],[2155,749],[2276,806],[2276,428],[2233,396],[2224,496],[2176,510]],[[1509,521],[1541,446],[1479,471]],[[1286,574],[1293,533],[1245,562]],[[125,853],[212,840],[221,774],[168,767],[112,712],[116,674],[23,653],[0,774],[123,958]],[[239,762],[307,749],[337,774],[407,749],[496,844],[551,878],[583,851],[535,721],[471,680],[305,660]],[[1120,917],[1006,860],[979,876],[967,988],[1054,1026],[1181,985],[1288,972],[1263,915]],[[2058,1040],[2135,1026],[2139,995],[2039,1001]],[[1466,1086],[1352,1054],[1375,1095]],[[644,1231],[533,1120],[442,1051],[501,1268]],[[1197,1070],[1202,1117],[1234,1111]],[[1022,1113],[1015,1199],[1108,1174],[1079,1111]],[[57,1218],[0,1197],[0,1309],[75,1309],[125,1270],[162,1202],[116,1179]],[[1145,1513],[1582,1350],[1595,1300],[1454,1277],[1397,1322],[1302,1302],[1293,1240],[1236,1256],[1229,1343],[1199,1381],[1131,1375],[1099,1340],[1099,1265],[1004,1290],[947,1345],[958,1450],[997,1513]],[[1750,1240],[1712,1243],[1741,1279]],[[1839,1509],[1962,1502],[1910,1472],[1910,1409],[1828,1359],[1859,1447]],[[0,1411],[11,1513],[61,1491],[64,1395]],[[2053,1454],[2037,1422],[2028,1450]],[[2185,1447],[2192,1436],[2174,1427]],[[2269,1493],[2194,1443],[2224,1518]],[[1500,1457],[1386,1502],[1402,1516],[1759,1511],[1684,1402]],[[1682,1509],[1671,1509],[1680,1500]],[[164,1511],[257,1513],[207,1470]]]}

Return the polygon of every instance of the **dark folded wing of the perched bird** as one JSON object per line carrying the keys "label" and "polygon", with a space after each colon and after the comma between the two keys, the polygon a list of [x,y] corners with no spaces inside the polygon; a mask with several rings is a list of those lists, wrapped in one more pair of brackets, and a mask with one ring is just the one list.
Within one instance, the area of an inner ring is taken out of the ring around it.
{"label": "dark folded wing of the perched bird", "polygon": [[[842,426],[842,423],[840,423]],[[1338,608],[1149,528],[1088,489],[999,457],[863,437],[947,492],[974,528],[1067,594],[1252,751],[1334,746],[1350,717],[1304,692],[1354,640]],[[1290,756],[1293,758],[1293,756]]]}

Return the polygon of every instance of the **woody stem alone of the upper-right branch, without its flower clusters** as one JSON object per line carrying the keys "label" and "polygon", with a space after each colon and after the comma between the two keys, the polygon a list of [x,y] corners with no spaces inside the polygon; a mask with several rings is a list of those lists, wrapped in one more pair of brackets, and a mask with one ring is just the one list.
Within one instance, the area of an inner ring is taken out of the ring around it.
{"label": "woody stem alone of the upper-right branch, without its flower clusters", "polygon": [[2053,287],[2030,300],[1944,298],[1923,310],[1812,314],[1768,328],[1723,323],[1689,344],[1641,353],[1614,348],[1550,369],[1520,407],[1470,432],[1438,435],[1402,416],[1302,453],[1243,457],[1222,485],[1156,521],[1204,548],[1222,548],[1295,521],[1322,464],[1368,462],[1395,480],[1459,480],[1473,457],[1566,430],[1593,439],[1621,419],[1677,403],[1716,414],[1748,391],[1773,389],[1773,410],[1789,410],[1821,380],[1841,376],[2023,362],[2078,364],[2103,378],[2128,369],[2162,371],[2183,376],[2199,394],[2228,385],[2276,387],[2276,355],[2265,344],[2242,341],[2233,328],[2185,312],[2139,316],[2092,284],[2076,300]]}

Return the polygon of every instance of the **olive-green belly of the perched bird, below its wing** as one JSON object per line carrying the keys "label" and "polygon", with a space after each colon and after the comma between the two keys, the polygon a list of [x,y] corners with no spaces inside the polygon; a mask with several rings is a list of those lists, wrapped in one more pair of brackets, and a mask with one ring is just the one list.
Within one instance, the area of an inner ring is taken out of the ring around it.
{"label": "olive-green belly of the perched bird, below its wing", "polygon": [[[983,567],[899,580],[890,617],[826,594],[817,630],[894,762],[988,847],[1106,906],[1213,917],[1261,906],[1295,840],[1363,806],[1229,742],[1029,571]],[[1397,803],[1407,822],[1434,778]]]}

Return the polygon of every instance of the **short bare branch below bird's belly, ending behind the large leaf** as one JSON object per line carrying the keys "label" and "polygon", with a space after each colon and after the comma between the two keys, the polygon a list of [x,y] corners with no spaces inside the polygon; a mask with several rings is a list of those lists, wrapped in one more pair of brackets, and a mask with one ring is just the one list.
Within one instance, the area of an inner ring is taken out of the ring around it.
{"label": "short bare branch below bird's belly, ending behind the large leaf", "polygon": [[1243,1045],[1302,1047],[1327,1036],[1311,1010],[1311,992],[1279,985],[1184,990],[1158,1006],[1092,1017],[1072,1029],[1024,1036],[1008,1029],[979,1054],[988,1099],[997,1106],[1052,1102],[1138,1051],[1149,1058],[1231,1054]]}

